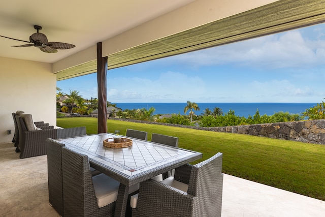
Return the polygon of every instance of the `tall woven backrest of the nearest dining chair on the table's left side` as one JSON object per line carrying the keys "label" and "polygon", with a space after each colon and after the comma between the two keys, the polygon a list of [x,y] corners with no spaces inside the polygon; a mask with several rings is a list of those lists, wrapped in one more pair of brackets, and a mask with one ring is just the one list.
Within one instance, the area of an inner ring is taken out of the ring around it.
{"label": "tall woven backrest of the nearest dining chair on the table's left side", "polygon": [[62,147],[64,215],[84,216],[98,209],[87,156]]}

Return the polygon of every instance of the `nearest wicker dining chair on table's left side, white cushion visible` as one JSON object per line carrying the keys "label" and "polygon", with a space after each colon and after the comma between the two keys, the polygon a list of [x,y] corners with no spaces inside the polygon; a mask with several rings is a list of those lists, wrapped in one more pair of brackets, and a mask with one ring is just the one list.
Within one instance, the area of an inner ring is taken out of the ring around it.
{"label": "nearest wicker dining chair on table's left side, white cushion visible", "polygon": [[[114,216],[120,183],[105,175],[91,176],[88,157],[62,147],[64,216]],[[129,194],[139,189],[133,185]]]}

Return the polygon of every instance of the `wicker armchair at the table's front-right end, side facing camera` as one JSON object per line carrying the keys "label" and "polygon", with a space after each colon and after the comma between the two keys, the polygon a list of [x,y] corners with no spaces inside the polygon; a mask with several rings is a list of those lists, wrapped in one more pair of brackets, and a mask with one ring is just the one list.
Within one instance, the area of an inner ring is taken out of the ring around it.
{"label": "wicker armchair at the table's front-right end, side facing camera", "polygon": [[175,169],[161,182],[140,183],[138,199],[131,197],[132,216],[221,216],[222,153],[196,165]]}

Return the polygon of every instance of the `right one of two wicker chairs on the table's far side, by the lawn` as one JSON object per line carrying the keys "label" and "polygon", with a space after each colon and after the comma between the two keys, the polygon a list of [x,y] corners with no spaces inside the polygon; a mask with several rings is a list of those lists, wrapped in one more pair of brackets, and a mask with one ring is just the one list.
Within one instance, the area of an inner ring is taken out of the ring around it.
{"label": "right one of two wicker chairs on the table's far side, by the lawn", "polygon": [[[163,135],[163,134],[153,133],[151,136],[151,142],[169,145],[169,146],[173,146],[173,147],[178,147],[178,137],[174,137],[174,136],[167,136],[167,135]],[[152,179],[161,181],[165,178],[168,178],[169,176],[173,176],[174,171],[175,170],[171,170],[171,171],[168,171],[167,173],[157,175],[157,176],[153,177]]]}

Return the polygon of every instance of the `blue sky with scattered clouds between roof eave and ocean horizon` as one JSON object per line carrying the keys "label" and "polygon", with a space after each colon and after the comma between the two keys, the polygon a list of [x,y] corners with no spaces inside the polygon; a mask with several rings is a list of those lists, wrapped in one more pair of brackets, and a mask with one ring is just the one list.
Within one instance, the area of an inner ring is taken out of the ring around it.
{"label": "blue sky with scattered clouds between roof eave and ocean horizon", "polygon": [[[325,24],[148,61],[107,73],[113,103],[320,103]],[[96,74],[57,82],[97,98]]]}

